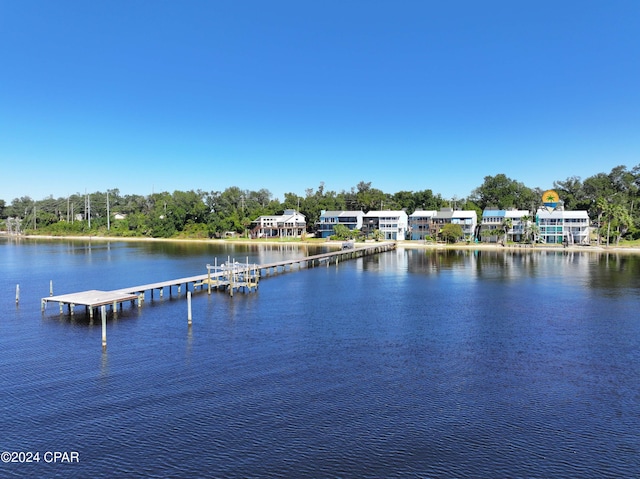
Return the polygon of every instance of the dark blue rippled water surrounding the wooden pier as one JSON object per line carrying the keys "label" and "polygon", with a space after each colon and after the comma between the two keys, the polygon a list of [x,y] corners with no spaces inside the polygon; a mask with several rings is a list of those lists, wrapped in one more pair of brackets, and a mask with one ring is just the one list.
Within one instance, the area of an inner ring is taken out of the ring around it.
{"label": "dark blue rippled water surrounding the wooden pier", "polygon": [[640,257],[400,249],[195,294],[191,328],[184,291],[126,304],[104,353],[40,312],[317,252],[0,240],[0,449],[41,454],[0,477],[640,475]]}

